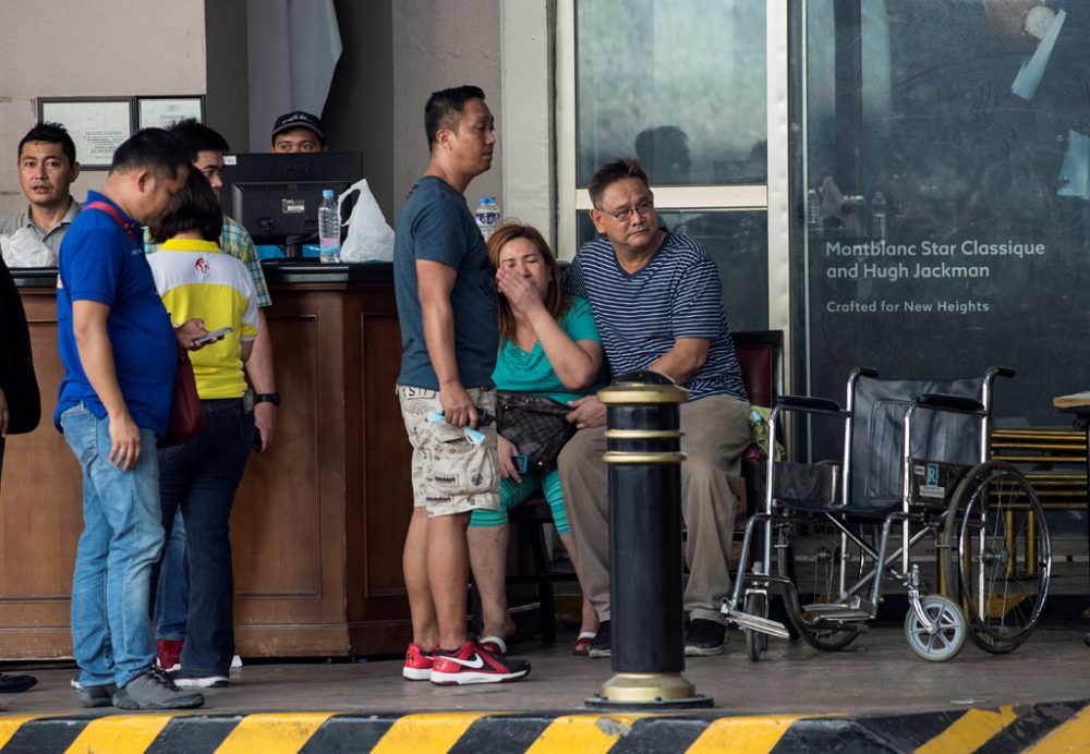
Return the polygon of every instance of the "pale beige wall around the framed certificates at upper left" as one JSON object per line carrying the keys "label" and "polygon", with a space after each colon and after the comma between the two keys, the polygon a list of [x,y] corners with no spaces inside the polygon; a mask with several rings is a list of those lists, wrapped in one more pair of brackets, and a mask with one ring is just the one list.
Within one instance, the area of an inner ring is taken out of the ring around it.
{"label": "pale beige wall around the framed certificates at upper left", "polygon": [[0,0],[0,211],[25,202],[15,149],[37,97],[204,94],[204,0]]}

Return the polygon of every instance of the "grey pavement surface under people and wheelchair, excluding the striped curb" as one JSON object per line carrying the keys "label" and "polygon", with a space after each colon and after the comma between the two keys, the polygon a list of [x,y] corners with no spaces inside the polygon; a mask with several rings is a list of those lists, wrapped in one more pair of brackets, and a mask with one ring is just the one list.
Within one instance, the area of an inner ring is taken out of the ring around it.
{"label": "grey pavement surface under people and wheelchair, excluding the striped curb", "polygon": [[[1042,625],[1009,655],[988,655],[972,645],[946,664],[918,659],[900,625],[884,623],[838,653],[772,639],[760,662],[744,655],[731,632],[727,653],[690,659],[685,671],[699,693],[714,698],[715,715],[767,713],[895,713],[957,709],[1090,698],[1090,621]],[[578,710],[613,676],[609,660],[570,654],[573,635],[543,648],[512,647],[533,664],[529,679],[487,686],[437,688],[408,682],[397,659],[367,662],[247,664],[231,685],[207,693],[205,713],[438,710]],[[2,668],[13,672],[15,668]],[[35,689],[0,696],[0,710],[21,715],[111,714],[82,710],[69,686],[70,668],[33,668]]]}

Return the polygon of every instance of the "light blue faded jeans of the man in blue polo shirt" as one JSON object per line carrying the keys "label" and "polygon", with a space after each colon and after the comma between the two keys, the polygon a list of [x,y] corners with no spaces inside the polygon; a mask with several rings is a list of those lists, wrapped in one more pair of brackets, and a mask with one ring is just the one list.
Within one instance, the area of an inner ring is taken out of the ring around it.
{"label": "light blue faded jeans of the man in blue polo shirt", "polygon": [[109,461],[110,419],[76,405],[61,414],[83,470],[83,534],[72,576],[72,648],[80,683],[119,686],[155,660],[147,616],[152,567],[162,549],[155,433],[141,429],[140,460]]}

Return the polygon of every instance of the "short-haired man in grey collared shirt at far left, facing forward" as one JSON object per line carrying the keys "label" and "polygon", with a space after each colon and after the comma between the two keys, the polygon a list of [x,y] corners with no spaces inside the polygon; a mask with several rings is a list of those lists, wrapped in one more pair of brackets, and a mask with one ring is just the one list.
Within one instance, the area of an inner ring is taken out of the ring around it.
{"label": "short-haired man in grey collared shirt at far left, facing forward", "polygon": [[19,185],[29,205],[0,217],[0,235],[29,229],[56,254],[80,212],[70,186],[80,175],[75,144],[64,126],[38,123],[19,143]]}

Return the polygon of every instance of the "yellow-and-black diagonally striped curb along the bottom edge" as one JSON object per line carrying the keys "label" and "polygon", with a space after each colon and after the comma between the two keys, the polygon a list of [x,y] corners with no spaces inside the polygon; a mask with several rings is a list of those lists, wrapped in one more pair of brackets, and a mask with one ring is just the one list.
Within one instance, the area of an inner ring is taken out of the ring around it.
{"label": "yellow-and-black diagonally striped curb along the bottom edge", "polygon": [[1090,701],[870,717],[429,713],[0,717],[0,752],[1067,752]]}

